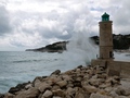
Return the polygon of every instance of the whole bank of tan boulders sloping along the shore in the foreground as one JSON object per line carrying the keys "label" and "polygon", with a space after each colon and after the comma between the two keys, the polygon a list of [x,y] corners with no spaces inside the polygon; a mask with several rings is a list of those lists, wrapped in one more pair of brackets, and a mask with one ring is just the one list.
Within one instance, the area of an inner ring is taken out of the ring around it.
{"label": "whole bank of tan boulders sloping along the shore in the foreground", "polygon": [[79,65],[18,84],[0,98],[130,98],[130,86],[119,76],[108,76],[103,66]]}

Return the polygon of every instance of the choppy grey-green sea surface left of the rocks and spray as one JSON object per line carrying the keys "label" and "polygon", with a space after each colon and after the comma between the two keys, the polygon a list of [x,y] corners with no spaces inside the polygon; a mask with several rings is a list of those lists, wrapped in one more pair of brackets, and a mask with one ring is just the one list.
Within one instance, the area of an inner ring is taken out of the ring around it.
{"label": "choppy grey-green sea surface left of the rocks and spray", "polygon": [[0,93],[6,93],[10,87],[32,81],[36,76],[50,75],[55,70],[64,72],[79,64],[83,61],[64,53],[0,51]]}

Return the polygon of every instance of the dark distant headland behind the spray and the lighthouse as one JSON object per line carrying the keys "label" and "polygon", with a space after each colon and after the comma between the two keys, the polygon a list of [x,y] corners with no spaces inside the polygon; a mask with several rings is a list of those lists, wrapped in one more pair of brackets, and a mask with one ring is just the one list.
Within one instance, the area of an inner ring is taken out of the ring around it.
{"label": "dark distant headland behind the spray and the lighthouse", "polygon": [[[92,36],[91,39],[99,45],[99,36]],[[26,49],[26,51],[41,51],[41,52],[63,52],[66,50],[66,45],[68,41],[58,41],[52,45],[48,45],[46,47],[37,48],[37,49]],[[113,44],[114,49],[122,50],[130,48],[130,34],[129,35],[115,35],[113,34]]]}

